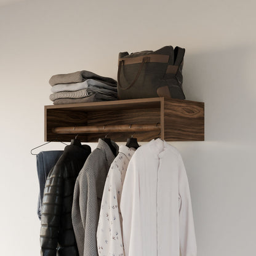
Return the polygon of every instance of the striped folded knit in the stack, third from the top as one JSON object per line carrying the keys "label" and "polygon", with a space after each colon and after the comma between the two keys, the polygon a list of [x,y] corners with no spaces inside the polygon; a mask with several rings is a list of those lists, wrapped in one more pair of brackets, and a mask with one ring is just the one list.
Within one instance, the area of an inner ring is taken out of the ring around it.
{"label": "striped folded knit in the stack, third from the top", "polygon": [[75,90],[73,92],[56,92],[55,94],[50,94],[50,100],[54,102],[54,100],[57,100],[58,98],[84,98],[95,93],[104,94],[116,98],[118,97],[118,93],[113,92],[112,90],[87,88],[82,90]]}

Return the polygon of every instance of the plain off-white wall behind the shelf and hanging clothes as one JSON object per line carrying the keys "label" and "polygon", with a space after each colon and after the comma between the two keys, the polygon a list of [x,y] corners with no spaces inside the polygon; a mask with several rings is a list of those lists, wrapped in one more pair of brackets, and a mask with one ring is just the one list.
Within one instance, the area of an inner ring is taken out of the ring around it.
{"label": "plain off-white wall behind the shelf and hanging clothes", "polygon": [[30,150],[44,142],[50,76],[90,70],[116,78],[119,52],[166,45],[185,47],[186,98],[206,107],[206,141],[172,143],[190,181],[198,256],[254,255],[255,9],[249,0],[46,0],[0,7],[1,255],[39,255]]}

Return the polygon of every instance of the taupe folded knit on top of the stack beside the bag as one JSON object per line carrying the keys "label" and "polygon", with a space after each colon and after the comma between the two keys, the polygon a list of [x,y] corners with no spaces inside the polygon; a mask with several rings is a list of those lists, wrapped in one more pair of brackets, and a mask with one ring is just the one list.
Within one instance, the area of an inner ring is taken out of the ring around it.
{"label": "taupe folded knit on top of the stack beside the bag", "polygon": [[117,84],[116,80],[114,80],[113,78],[99,76],[98,74],[86,70],[68,74],[55,74],[50,78],[49,84],[51,86],[55,86],[55,84],[70,84],[73,82],[83,82],[86,79],[97,79],[100,81],[110,82],[111,84]]}

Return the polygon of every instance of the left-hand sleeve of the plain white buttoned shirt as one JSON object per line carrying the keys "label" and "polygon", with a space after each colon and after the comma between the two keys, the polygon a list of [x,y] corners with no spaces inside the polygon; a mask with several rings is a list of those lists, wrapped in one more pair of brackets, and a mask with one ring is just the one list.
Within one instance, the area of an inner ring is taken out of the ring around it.
{"label": "left-hand sleeve of the plain white buttoned shirt", "polygon": [[124,252],[126,255],[143,255],[140,227],[139,162],[135,154],[127,167],[120,204]]}

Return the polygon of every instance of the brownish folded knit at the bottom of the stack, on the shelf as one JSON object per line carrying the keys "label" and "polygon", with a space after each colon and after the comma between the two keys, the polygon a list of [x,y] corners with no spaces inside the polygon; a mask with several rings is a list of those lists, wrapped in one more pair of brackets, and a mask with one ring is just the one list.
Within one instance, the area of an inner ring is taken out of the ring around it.
{"label": "brownish folded knit at the bottom of the stack, on the shelf", "polygon": [[104,94],[93,94],[85,98],[59,98],[58,100],[54,100],[54,105],[84,102],[103,102],[106,100],[117,100],[117,98],[110,97]]}

